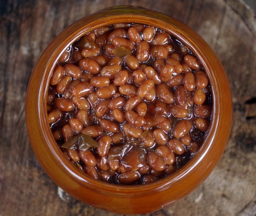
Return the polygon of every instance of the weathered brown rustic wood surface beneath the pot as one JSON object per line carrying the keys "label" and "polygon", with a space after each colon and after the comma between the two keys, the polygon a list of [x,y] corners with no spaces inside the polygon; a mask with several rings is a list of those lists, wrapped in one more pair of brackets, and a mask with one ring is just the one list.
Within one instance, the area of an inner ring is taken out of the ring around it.
{"label": "weathered brown rustic wood surface beneath the pot", "polygon": [[49,42],[74,21],[102,8],[131,4],[184,22],[220,58],[234,102],[226,151],[189,196],[152,216],[256,215],[256,19],[242,0],[1,0],[0,216],[94,215],[46,175],[30,146],[25,96],[30,74]]}

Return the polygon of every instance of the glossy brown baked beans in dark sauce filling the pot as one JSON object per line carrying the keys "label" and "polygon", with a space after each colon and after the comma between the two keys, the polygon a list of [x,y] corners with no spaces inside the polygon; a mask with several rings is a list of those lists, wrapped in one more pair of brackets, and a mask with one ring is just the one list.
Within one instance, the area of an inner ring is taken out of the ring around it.
{"label": "glossy brown baked beans in dark sauce filling the pot", "polygon": [[114,24],[79,38],[50,79],[48,121],[74,166],[112,184],[148,184],[200,149],[212,116],[208,76],[174,36]]}

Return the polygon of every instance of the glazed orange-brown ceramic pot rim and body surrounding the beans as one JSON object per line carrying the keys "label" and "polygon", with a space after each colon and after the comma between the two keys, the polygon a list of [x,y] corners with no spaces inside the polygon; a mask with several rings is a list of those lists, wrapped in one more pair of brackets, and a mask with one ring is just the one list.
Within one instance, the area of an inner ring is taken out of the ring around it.
{"label": "glazed orange-brown ceramic pot rim and body surrounding the beans", "polygon": [[[155,26],[176,36],[202,62],[212,88],[212,120],[200,150],[174,174],[148,185],[122,186],[90,178],[64,156],[53,138],[47,120],[46,96],[50,77],[60,54],[87,32],[122,22]],[[91,206],[110,212],[138,214],[152,212],[180,200],[212,172],[230,134],[232,100],[222,65],[198,34],[178,20],[159,12],[118,6],[75,22],[46,48],[34,68],[28,85],[26,123],[30,142],[38,160],[58,186]]]}

